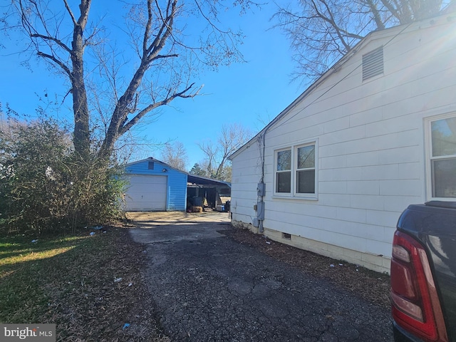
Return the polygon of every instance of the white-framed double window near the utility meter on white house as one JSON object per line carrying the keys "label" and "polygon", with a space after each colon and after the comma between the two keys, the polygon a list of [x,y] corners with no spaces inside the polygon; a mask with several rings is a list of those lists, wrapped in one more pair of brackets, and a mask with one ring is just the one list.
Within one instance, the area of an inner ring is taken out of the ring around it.
{"label": "white-framed double window near the utility meter on white house", "polygon": [[316,198],[316,142],[275,151],[274,195]]}

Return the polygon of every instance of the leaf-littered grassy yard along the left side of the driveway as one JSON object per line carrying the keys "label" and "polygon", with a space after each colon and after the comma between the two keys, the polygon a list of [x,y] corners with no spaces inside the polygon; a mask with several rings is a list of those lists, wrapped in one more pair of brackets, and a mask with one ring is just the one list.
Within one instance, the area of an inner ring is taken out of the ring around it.
{"label": "leaf-littered grassy yard along the left side of the driveway", "polygon": [[32,239],[0,238],[1,323],[56,323],[57,341],[160,341],[127,229]]}

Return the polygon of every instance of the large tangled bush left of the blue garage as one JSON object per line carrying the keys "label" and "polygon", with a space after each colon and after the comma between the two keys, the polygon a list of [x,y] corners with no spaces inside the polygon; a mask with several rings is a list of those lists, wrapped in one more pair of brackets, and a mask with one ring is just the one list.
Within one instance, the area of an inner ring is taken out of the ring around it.
{"label": "large tangled bush left of the blue garage", "polygon": [[52,120],[0,130],[0,224],[9,231],[55,232],[120,214],[120,168],[82,159]]}

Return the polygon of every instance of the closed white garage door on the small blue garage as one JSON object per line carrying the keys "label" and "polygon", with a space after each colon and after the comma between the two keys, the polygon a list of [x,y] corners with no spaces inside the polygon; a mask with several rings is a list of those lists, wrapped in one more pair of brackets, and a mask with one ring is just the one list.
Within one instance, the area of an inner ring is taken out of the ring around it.
{"label": "closed white garage door on the small blue garage", "polygon": [[165,211],[166,194],[166,176],[132,175],[125,196],[125,210]]}

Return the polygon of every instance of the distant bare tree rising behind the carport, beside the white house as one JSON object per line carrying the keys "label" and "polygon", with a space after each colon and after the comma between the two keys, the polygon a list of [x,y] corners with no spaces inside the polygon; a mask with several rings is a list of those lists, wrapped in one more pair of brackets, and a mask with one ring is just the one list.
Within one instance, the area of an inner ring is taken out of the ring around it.
{"label": "distant bare tree rising behind the carport, beside the white house", "polygon": [[242,127],[239,123],[223,125],[216,143],[207,141],[198,144],[205,156],[204,162],[200,162],[199,167],[206,165],[209,177],[217,180],[231,180],[231,165],[229,165],[228,157],[252,136],[252,130]]}

